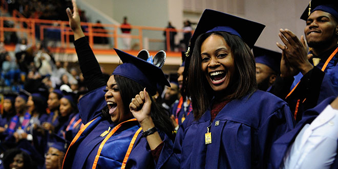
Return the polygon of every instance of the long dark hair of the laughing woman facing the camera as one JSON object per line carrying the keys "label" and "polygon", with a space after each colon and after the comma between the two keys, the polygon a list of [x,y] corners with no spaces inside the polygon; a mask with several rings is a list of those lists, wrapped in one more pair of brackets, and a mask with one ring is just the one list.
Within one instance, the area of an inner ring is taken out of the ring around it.
{"label": "long dark hair of the laughing woman facing the camera", "polygon": [[[227,91],[233,91],[226,96],[227,99],[239,99],[257,89],[256,67],[254,56],[250,48],[244,41],[236,35],[226,32],[209,32],[201,34],[197,39],[191,60],[186,69],[187,73],[187,91],[192,98],[193,113],[195,119],[199,119],[209,107],[210,99],[215,95],[213,89],[209,86],[205,74],[202,71],[201,46],[203,41],[210,35],[219,35],[224,38],[231,49],[235,62],[235,74],[228,85]],[[183,77],[184,79],[186,77]]]}

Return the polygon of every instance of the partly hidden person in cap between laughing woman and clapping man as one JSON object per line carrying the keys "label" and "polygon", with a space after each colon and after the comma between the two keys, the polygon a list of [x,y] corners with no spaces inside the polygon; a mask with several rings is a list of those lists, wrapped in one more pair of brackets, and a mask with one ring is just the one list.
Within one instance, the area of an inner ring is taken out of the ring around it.
{"label": "partly hidden person in cap between laughing woman and clapping man", "polygon": [[280,78],[282,54],[268,49],[254,47],[252,52],[256,61],[257,87],[262,91],[269,91],[270,87]]}

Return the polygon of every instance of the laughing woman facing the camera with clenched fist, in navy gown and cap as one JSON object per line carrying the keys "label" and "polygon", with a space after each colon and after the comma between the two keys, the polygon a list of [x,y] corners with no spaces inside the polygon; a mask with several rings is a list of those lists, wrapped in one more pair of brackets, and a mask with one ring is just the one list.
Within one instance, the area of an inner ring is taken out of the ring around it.
{"label": "laughing woman facing the camera with clenched fist, in navy gown and cap", "polygon": [[[165,141],[161,147],[156,133],[147,136],[151,147],[162,149],[158,161],[165,161],[164,166],[267,167],[271,144],[293,129],[293,119],[285,101],[257,90],[250,48],[263,28],[226,13],[203,12],[188,49],[193,52],[185,60],[194,116],[180,126],[174,147]],[[130,108],[142,128],[149,129],[154,124],[149,97],[144,98],[133,100]]]}

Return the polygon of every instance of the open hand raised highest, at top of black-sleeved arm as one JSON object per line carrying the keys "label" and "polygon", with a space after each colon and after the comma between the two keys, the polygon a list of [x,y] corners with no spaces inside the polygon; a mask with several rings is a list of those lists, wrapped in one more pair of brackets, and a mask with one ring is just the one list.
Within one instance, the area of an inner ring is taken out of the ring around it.
{"label": "open hand raised highest, at top of black-sleeved arm", "polygon": [[83,34],[81,29],[80,15],[77,9],[76,0],[72,0],[72,4],[73,4],[73,13],[69,8],[66,9],[66,12],[69,18],[69,26],[73,30],[74,39],[76,40],[80,37],[85,36],[85,34]]}

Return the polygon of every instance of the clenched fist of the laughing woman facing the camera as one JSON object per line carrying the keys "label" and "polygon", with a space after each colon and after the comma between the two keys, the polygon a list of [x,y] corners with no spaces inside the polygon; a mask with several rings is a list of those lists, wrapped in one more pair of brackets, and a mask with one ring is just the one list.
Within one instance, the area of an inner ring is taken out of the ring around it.
{"label": "clenched fist of the laughing woman facing the camera", "polygon": [[152,100],[150,99],[148,92],[145,91],[145,88],[136,95],[129,104],[130,111],[141,125],[147,122],[152,123],[150,116],[151,108]]}

